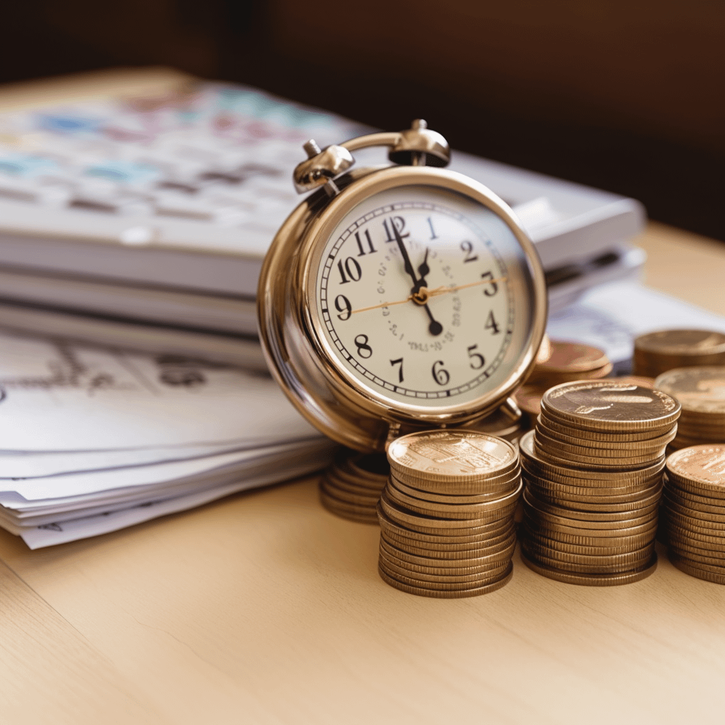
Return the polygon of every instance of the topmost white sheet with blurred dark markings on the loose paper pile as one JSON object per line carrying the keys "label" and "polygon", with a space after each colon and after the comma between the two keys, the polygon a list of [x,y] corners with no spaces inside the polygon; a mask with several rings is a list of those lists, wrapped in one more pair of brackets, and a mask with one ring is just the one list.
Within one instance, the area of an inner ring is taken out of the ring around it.
{"label": "topmost white sheet with blurred dark markings on the loose paper pile", "polygon": [[86,451],[319,436],[267,376],[0,335],[0,445]]}

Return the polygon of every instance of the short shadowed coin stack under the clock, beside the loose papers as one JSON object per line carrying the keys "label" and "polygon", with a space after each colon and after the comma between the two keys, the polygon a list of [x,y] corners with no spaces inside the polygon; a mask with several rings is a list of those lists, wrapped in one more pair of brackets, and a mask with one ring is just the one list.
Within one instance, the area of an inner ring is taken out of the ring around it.
{"label": "short shadowed coin stack under the clock, beside the loose papers", "polygon": [[378,523],[378,500],[389,472],[384,453],[341,448],[320,479],[320,501],[342,518]]}

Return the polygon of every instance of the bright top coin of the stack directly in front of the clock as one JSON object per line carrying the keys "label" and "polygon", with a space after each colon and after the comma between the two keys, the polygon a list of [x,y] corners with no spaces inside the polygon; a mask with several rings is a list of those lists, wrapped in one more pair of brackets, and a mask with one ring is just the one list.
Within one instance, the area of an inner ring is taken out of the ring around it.
{"label": "bright top coin of the stack directly in front of the clock", "polygon": [[401,436],[388,447],[390,466],[404,474],[444,483],[469,483],[500,476],[518,465],[508,441],[475,431],[421,431]]}

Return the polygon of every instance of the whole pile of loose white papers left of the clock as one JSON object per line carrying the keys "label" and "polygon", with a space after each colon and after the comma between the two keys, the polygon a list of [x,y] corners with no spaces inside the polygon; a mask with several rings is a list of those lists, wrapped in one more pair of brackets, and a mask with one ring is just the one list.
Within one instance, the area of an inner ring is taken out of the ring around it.
{"label": "whole pile of loose white papers left of the clock", "polygon": [[323,468],[267,376],[0,335],[0,526],[32,549]]}

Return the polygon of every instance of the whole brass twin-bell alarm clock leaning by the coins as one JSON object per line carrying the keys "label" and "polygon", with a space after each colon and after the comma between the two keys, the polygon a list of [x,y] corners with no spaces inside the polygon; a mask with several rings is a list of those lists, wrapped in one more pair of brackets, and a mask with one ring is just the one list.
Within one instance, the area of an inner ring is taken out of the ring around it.
{"label": "whole brass twin-bell alarm clock leaning by the coins", "polygon": [[[392,165],[352,152],[389,147]],[[362,451],[474,423],[526,378],[547,317],[544,274],[510,207],[460,173],[422,120],[320,150],[257,294],[269,368],[332,439]]]}

